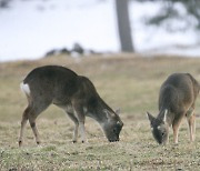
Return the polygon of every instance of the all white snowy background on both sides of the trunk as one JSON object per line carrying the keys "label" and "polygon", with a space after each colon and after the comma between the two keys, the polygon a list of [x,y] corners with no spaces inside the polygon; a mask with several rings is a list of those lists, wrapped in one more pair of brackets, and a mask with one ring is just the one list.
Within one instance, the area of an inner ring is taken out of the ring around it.
{"label": "all white snowy background on both sides of the trunk", "polygon": [[[200,47],[186,48],[200,40],[193,30],[169,33],[144,26],[143,16],[159,9],[159,3],[130,3],[137,51],[200,56]],[[113,0],[14,0],[10,9],[0,9],[0,61],[37,59],[51,49],[71,49],[76,42],[96,51],[119,51]]]}

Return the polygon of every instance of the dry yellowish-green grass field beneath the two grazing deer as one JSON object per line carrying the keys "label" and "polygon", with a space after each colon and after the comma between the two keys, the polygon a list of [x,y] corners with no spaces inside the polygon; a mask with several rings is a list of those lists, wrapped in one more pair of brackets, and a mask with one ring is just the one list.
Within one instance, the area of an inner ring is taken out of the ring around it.
{"label": "dry yellowish-green grass field beneath the two grazing deer", "polygon": [[[28,124],[24,144],[18,148],[21,114],[27,105],[19,84],[30,70],[44,64],[61,64],[87,76],[110,107],[121,109],[124,127],[119,142],[107,142],[96,121],[87,118],[88,143],[73,144],[73,123],[51,105],[38,118],[41,145],[36,144]],[[119,54],[0,63],[0,170],[199,170],[200,98],[193,143],[189,142],[184,121],[178,145],[172,143],[172,130],[170,144],[158,145],[146,117],[146,111],[158,113],[160,84],[173,72],[190,72],[200,81],[200,59]]]}

